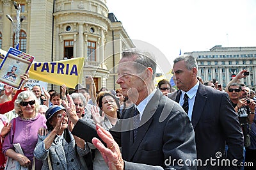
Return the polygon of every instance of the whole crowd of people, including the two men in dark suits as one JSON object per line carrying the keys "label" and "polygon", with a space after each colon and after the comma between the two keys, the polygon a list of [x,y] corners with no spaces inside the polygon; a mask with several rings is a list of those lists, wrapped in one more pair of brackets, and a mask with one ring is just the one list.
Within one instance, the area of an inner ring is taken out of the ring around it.
{"label": "whole crowd of people, including the two men in dark suits", "polygon": [[175,87],[166,79],[156,87],[156,66],[152,54],[127,49],[118,89],[96,91],[92,75],[89,89],[77,84],[70,94],[65,84],[24,87],[28,74],[19,90],[4,86],[0,169],[11,159],[27,169],[253,169],[256,97],[241,84],[248,70],[223,89],[198,77],[193,56],[179,56]]}

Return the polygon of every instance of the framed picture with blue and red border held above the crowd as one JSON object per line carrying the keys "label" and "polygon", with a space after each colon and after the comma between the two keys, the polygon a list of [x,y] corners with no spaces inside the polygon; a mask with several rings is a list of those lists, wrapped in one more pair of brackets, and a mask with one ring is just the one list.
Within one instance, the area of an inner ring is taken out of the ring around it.
{"label": "framed picture with blue and red border held above the crowd", "polygon": [[28,73],[35,57],[10,47],[0,65],[0,81],[13,88],[20,89],[23,79],[20,75]]}

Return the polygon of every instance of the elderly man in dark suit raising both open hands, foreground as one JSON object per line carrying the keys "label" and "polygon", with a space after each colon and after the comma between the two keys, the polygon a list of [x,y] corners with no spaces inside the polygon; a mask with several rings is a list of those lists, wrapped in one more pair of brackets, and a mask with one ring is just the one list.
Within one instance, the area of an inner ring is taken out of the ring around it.
{"label": "elderly man in dark suit raising both open hands, foreground", "polygon": [[[107,147],[99,139],[92,139],[109,169],[196,169],[191,122],[179,104],[154,86],[155,72],[156,60],[148,53],[137,49],[122,53],[117,83],[134,106],[125,110],[122,119],[111,128],[113,136],[97,126],[97,134]],[[68,117],[76,124],[72,134],[86,138],[85,123],[69,110],[67,107]],[[122,146],[122,155],[118,144]]]}

